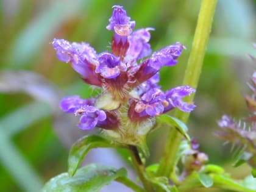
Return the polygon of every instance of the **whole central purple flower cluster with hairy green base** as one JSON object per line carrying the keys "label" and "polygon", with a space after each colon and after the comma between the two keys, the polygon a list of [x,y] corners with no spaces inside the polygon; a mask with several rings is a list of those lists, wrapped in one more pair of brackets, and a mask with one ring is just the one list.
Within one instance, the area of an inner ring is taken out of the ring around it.
{"label": "whole central purple flower cluster with hairy green base", "polygon": [[80,116],[77,125],[80,129],[100,127],[116,132],[136,129],[138,133],[147,119],[175,107],[183,112],[191,112],[195,107],[182,101],[195,91],[193,88],[183,86],[162,91],[157,85],[160,68],[176,65],[185,47],[175,43],[149,56],[149,31],[154,29],[133,31],[134,27],[135,21],[130,21],[126,10],[115,5],[107,25],[113,31],[112,52],[96,54],[87,43],[56,38],[52,41],[59,60],[69,63],[85,83],[102,88],[98,98],[68,96],[60,102],[63,112]]}

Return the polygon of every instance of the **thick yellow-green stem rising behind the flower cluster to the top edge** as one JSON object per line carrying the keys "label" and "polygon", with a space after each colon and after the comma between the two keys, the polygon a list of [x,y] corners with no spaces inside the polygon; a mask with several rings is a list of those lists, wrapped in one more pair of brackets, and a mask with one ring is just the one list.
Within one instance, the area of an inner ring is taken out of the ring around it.
{"label": "thick yellow-green stem rising behind the flower cluster to the top edge", "polygon": [[[183,85],[197,88],[199,76],[201,74],[202,63],[204,60],[205,49],[212,27],[213,15],[215,13],[217,0],[202,0],[199,12],[194,40],[191,48],[190,58],[188,59]],[[185,101],[193,101],[194,94],[185,98]],[[176,111],[176,117],[187,123],[190,113]],[[175,169],[176,155],[179,149],[182,135],[176,129],[171,129],[165,146],[163,157],[160,160],[158,169],[159,176],[169,177]]]}

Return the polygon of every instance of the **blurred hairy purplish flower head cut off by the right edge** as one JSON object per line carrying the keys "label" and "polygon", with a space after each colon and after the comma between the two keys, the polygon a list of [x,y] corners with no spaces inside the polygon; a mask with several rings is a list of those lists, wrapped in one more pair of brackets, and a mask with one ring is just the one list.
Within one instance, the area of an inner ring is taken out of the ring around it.
{"label": "blurred hairy purplish flower head cut off by the right edge", "polygon": [[[256,48],[256,44],[254,44],[254,48]],[[256,62],[252,55],[250,57]],[[221,130],[216,131],[215,135],[222,140],[243,148],[241,150],[243,153],[241,153],[238,163],[242,160],[256,168],[256,72],[252,74],[251,82],[252,84],[249,84],[249,87],[253,93],[251,96],[244,96],[251,116],[236,123],[229,116],[223,115],[222,119],[218,121]]]}

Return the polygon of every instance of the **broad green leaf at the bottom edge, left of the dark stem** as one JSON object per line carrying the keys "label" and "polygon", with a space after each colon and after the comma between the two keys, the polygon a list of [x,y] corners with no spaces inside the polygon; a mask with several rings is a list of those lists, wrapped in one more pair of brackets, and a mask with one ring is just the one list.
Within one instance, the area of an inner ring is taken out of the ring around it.
{"label": "broad green leaf at the bottom edge, left of the dark stem", "polygon": [[73,177],[62,173],[49,180],[41,192],[97,192],[119,177],[126,177],[126,169],[91,164],[77,170]]}

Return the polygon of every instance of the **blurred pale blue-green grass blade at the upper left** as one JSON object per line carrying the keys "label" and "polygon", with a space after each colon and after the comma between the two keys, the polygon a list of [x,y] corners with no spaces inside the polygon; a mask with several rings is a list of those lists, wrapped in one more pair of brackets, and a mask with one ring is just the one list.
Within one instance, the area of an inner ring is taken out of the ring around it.
{"label": "blurred pale blue-green grass blade at the upper left", "polygon": [[32,20],[13,42],[7,63],[12,68],[24,68],[41,47],[51,42],[52,34],[60,27],[63,21],[79,13],[82,3],[87,1],[52,1],[42,13]]}

